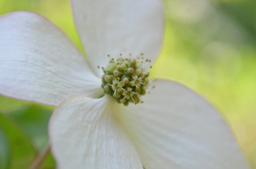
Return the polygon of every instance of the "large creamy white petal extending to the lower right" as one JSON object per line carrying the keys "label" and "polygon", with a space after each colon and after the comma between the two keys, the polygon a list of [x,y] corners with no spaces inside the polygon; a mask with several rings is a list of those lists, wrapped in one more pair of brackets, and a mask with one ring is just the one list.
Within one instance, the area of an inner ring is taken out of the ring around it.
{"label": "large creamy white petal extending to the lower right", "polygon": [[120,107],[119,120],[146,169],[246,169],[228,124],[204,98],[159,80],[144,103]]}

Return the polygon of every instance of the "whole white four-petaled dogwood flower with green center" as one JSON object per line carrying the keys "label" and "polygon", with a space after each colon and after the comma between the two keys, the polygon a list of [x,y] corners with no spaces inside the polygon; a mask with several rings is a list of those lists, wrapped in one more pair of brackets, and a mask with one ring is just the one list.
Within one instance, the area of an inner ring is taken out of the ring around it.
{"label": "whole white four-petaled dogwood flower with green center", "polygon": [[58,168],[247,168],[228,124],[201,95],[147,80],[163,37],[161,1],[71,4],[87,59],[43,16],[0,18],[0,93],[58,105],[49,124]]}

